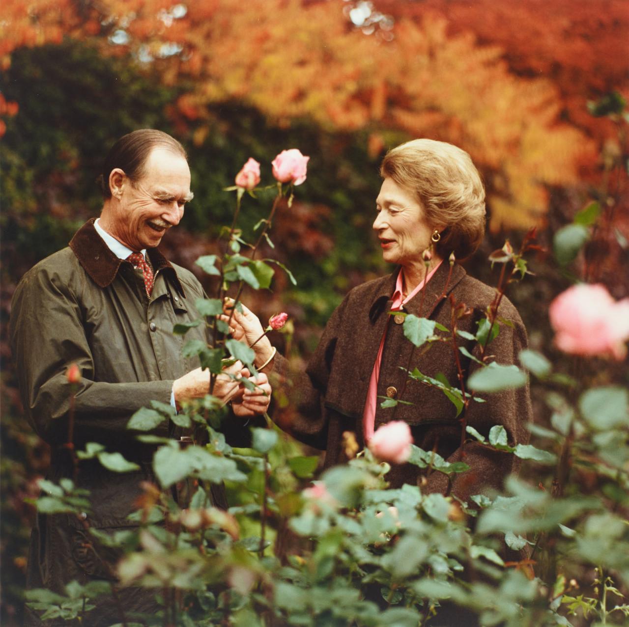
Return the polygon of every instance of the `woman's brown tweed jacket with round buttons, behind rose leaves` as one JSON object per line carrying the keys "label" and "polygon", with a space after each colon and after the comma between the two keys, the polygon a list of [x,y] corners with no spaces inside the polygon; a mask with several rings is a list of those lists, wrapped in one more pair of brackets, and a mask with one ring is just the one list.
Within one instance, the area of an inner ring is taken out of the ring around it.
{"label": "woman's brown tweed jacket with round buttons, behind rose leaves", "polygon": [[[451,299],[465,303],[472,314],[459,320],[459,329],[476,334],[477,323],[484,317],[487,305],[494,298],[495,290],[465,273],[455,264],[448,281],[450,266],[447,262],[437,270],[426,286],[426,295],[418,293],[405,306],[404,311],[436,320],[452,328]],[[291,373],[289,364],[282,356],[276,356],[274,375],[294,401],[298,416],[291,424],[281,424],[294,437],[319,449],[326,450],[325,466],[345,461],[342,434],[355,433],[363,444],[362,412],[367,396],[369,378],[376,360],[382,333],[387,337],[382,354],[378,395],[386,396],[387,388],[396,388],[396,397],[412,405],[398,405],[382,409],[380,401],[376,412],[376,428],[390,420],[404,420],[411,426],[415,444],[425,450],[435,450],[447,461],[464,461],[469,471],[455,477],[451,493],[462,499],[486,488],[501,488],[504,477],[518,468],[518,458],[468,441],[464,450],[460,447],[461,423],[455,406],[437,388],[409,381],[403,369],[411,359],[413,345],[404,337],[403,325],[389,315],[391,296],[394,292],[397,271],[391,275],[369,281],[351,290],[328,320],[321,340],[311,357],[305,373]],[[511,302],[503,297],[499,317],[512,324],[500,324],[498,337],[487,346],[487,353],[499,364],[518,363],[518,354],[526,348],[526,330],[520,315]],[[441,332],[437,332],[438,334]],[[479,356],[479,346],[474,341],[457,337],[474,356]],[[481,368],[469,357],[459,353],[465,379],[475,369]],[[437,377],[443,373],[450,383],[457,381],[452,344],[433,342],[415,349],[410,369]],[[481,395],[486,402],[472,401],[467,410],[467,424],[484,435],[493,425],[503,425],[508,433],[509,444],[528,441],[526,423],[532,411],[528,384],[518,390],[506,390]],[[278,421],[279,422],[279,421]],[[425,478],[424,478],[425,476]],[[448,479],[440,472],[419,471],[415,466],[395,466],[387,474],[392,487],[403,483],[420,484],[424,493],[448,491]]]}

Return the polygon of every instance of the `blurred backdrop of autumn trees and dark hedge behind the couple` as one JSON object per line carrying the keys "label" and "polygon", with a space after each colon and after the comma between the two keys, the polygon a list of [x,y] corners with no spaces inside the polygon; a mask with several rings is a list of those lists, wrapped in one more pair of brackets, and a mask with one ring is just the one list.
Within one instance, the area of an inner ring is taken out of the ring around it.
{"label": "blurred backdrop of autumn trees and dark hedge behind the couple", "polygon": [[[6,337],[11,296],[28,268],[98,214],[95,179],[117,138],[152,127],[186,147],[195,197],[164,249],[191,270],[218,252],[233,211],[223,188],[248,157],[270,170],[284,148],[310,156],[308,179],[272,230],[274,255],[298,285],[278,273],[270,292],[243,297],[262,319],[289,313],[295,361],[308,358],[350,288],[388,271],[371,234],[387,148],[415,137],[461,146],[481,170],[489,216],[466,269],[495,284],[489,253],[538,226],[547,253],[508,296],[531,347],[571,371],[552,347],[550,300],[575,278],[629,295],[628,41],[625,0],[5,0],[2,624],[19,624],[35,511],[24,499],[36,496],[48,462],[21,418]],[[553,236],[591,202],[599,219],[562,266]],[[260,217],[258,205],[245,205],[243,227]],[[626,362],[609,365],[579,368],[590,383],[626,386]],[[545,425],[535,384],[533,401]],[[604,487],[579,472],[584,490]]]}

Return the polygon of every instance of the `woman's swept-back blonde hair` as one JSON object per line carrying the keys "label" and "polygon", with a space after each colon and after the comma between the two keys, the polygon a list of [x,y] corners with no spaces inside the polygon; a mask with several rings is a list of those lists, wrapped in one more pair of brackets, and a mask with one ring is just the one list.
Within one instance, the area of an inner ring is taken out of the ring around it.
{"label": "woman's swept-back blonde hair", "polygon": [[470,156],[434,139],[413,139],[392,148],[380,168],[417,197],[430,225],[443,225],[437,252],[460,261],[479,247],[485,233],[485,188]]}

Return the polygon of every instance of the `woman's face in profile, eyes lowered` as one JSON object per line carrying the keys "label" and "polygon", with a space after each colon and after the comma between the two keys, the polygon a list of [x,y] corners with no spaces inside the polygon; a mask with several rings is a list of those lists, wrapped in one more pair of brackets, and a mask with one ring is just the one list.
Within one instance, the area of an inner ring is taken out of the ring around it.
{"label": "woman's face in profile, eyes lowered", "polygon": [[421,253],[430,246],[435,227],[426,223],[424,209],[413,194],[391,178],[385,178],[376,199],[376,210],[374,231],[384,261],[403,266],[423,263]]}

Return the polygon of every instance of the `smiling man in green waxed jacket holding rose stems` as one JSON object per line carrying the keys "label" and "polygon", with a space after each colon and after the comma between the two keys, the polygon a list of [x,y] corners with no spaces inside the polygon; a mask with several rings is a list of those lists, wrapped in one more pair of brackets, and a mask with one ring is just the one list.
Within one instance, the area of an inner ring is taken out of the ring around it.
{"label": "smiling man in green waxed jacket holding rose stems", "polygon": [[[128,528],[142,482],[154,481],[154,445],[140,444],[126,425],[136,410],[153,400],[179,406],[208,393],[209,371],[198,359],[181,355],[175,324],[199,314],[194,303],[203,288],[192,273],[160,253],[165,232],[181,221],[192,199],[190,170],[181,144],[160,131],[144,129],[121,138],[104,162],[101,175],[104,204],[69,248],[36,264],[15,292],[10,322],[13,356],[26,417],[50,444],[48,478],[57,482],[74,474],[64,444],[73,415],[77,450],[99,442],[140,466],[125,474],[110,472],[95,459],[80,462],[75,476],[89,489],[91,511],[83,516],[38,516],[31,535],[28,587],[62,591],[77,579],[111,579],[112,570],[90,548],[86,523],[108,531]],[[189,339],[205,340],[205,325]],[[67,371],[77,364],[80,376],[71,388]],[[248,377],[237,363],[220,374],[213,390],[233,413],[250,417],[264,413],[270,386],[260,374],[255,391],[243,391],[230,377]],[[70,398],[74,395],[74,409]],[[245,433],[245,421],[230,421],[232,435]],[[165,421],[157,435],[179,439],[182,431]],[[220,501],[220,494],[214,494]],[[220,502],[216,504],[220,505]],[[151,596],[122,591],[126,609],[150,610]],[[31,622],[29,622],[29,620]],[[116,623],[116,610],[97,608],[90,624]],[[40,624],[27,619],[27,624]]]}

